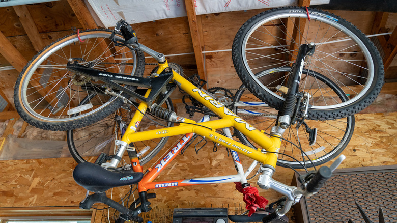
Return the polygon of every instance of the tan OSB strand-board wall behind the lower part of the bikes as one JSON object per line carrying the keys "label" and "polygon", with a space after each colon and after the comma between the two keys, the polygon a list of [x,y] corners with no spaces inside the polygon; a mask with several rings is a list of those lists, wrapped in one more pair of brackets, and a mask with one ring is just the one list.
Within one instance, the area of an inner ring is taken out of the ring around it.
{"label": "tan OSB strand-board wall behind the lower part of the bikes", "polygon": [[[343,152],[347,159],[341,168],[397,164],[397,139],[394,137],[397,134],[396,116],[395,112],[357,115],[354,135]],[[212,152],[212,147],[206,147],[197,156],[194,148],[190,147],[177,160],[168,166],[159,180],[234,173],[231,158],[227,157],[223,148]],[[243,163],[245,166],[249,164],[245,158]],[[72,158],[0,161],[0,207],[78,205],[86,191],[72,178],[75,165]],[[292,174],[289,169],[278,168],[274,178],[290,184]],[[114,198],[124,196],[127,189],[115,188]],[[158,189],[155,192],[157,198],[152,201],[158,207],[222,207],[242,204],[241,194],[234,189],[234,184]],[[261,193],[270,201],[279,196],[274,192]],[[110,191],[108,195],[110,197]]]}

